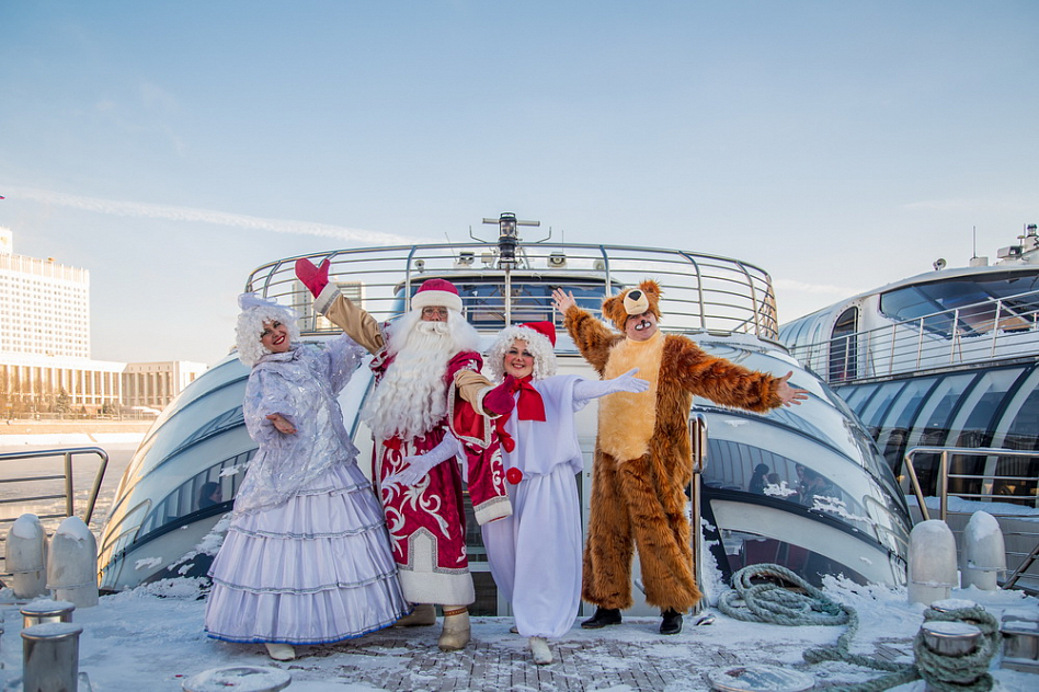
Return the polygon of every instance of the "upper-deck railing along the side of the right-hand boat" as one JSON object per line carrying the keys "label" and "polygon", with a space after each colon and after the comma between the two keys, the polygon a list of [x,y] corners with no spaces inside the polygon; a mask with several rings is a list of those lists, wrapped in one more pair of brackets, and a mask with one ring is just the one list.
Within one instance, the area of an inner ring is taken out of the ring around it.
{"label": "upper-deck railing along the side of the right-hand boat", "polygon": [[1029,291],[789,346],[831,384],[850,384],[1031,355],[1037,328],[1039,291]]}

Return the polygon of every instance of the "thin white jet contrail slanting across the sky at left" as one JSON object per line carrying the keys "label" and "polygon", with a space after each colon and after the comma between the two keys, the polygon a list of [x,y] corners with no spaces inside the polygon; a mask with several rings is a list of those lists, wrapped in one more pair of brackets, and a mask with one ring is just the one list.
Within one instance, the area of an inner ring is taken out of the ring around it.
{"label": "thin white jet contrail slanting across the sky at left", "polygon": [[328,223],[293,221],[288,219],[261,219],[259,217],[251,217],[241,214],[228,214],[226,211],[214,211],[212,209],[193,209],[191,207],[173,207],[168,205],[152,205],[137,201],[116,201],[113,199],[82,197],[80,195],[67,195],[65,193],[33,189],[28,187],[7,187],[4,188],[4,193],[7,193],[7,196],[10,197],[12,201],[18,199],[31,199],[42,204],[70,207],[72,209],[82,209],[84,211],[106,214],[110,216],[214,223],[216,226],[226,226],[229,228],[259,229],[263,231],[272,231],[274,233],[301,233],[304,235],[334,238],[370,245],[397,245],[412,244],[416,242],[435,242],[431,241],[429,238],[409,238],[406,235],[397,235],[395,233],[380,233],[378,231],[366,231],[363,229],[352,229],[343,226],[331,226]]}

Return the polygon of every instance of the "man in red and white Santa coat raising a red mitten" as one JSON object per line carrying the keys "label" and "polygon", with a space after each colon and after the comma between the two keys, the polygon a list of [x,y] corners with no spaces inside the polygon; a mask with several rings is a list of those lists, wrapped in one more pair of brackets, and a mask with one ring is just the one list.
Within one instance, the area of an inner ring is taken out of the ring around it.
{"label": "man in red and white Santa coat raising a red mitten", "polygon": [[[329,261],[296,263],[296,276],[326,315],[375,355],[376,389],[362,418],[375,436],[373,476],[381,481],[408,464],[404,457],[435,448],[448,427],[466,449],[469,494],[477,521],[512,514],[496,436],[484,416],[512,411],[511,382],[493,387],[480,374],[479,334],[461,314],[458,290],[444,279],[425,281],[411,311],[379,324],[328,280]],[[441,649],[469,642],[467,606],[476,600],[466,557],[465,514],[458,464],[431,463],[414,486],[380,489],[404,598],[415,612],[398,624],[433,624],[444,611]]]}

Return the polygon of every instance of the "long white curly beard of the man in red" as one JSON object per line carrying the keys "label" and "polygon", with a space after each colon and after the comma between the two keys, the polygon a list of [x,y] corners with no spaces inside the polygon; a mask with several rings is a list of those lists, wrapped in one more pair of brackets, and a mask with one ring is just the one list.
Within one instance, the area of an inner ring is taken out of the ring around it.
{"label": "long white curly beard of the man in red", "polygon": [[461,349],[447,322],[408,322],[391,328],[390,353],[397,355],[362,414],[378,439],[410,440],[447,415],[447,362]]}

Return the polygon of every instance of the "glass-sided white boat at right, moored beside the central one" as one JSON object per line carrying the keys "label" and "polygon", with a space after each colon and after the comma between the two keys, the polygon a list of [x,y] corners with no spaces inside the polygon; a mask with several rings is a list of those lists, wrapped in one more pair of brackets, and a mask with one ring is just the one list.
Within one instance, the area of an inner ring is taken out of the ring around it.
{"label": "glass-sided white boat at right, moored beside the central one", "polygon": [[[1006,542],[1001,580],[1039,589],[1039,233],[786,323],[780,341],[860,417],[914,520],[958,537],[977,510]],[[943,496],[946,498],[943,503]],[[962,541],[957,541],[962,549]],[[1015,574],[1016,573],[1016,574]]]}

